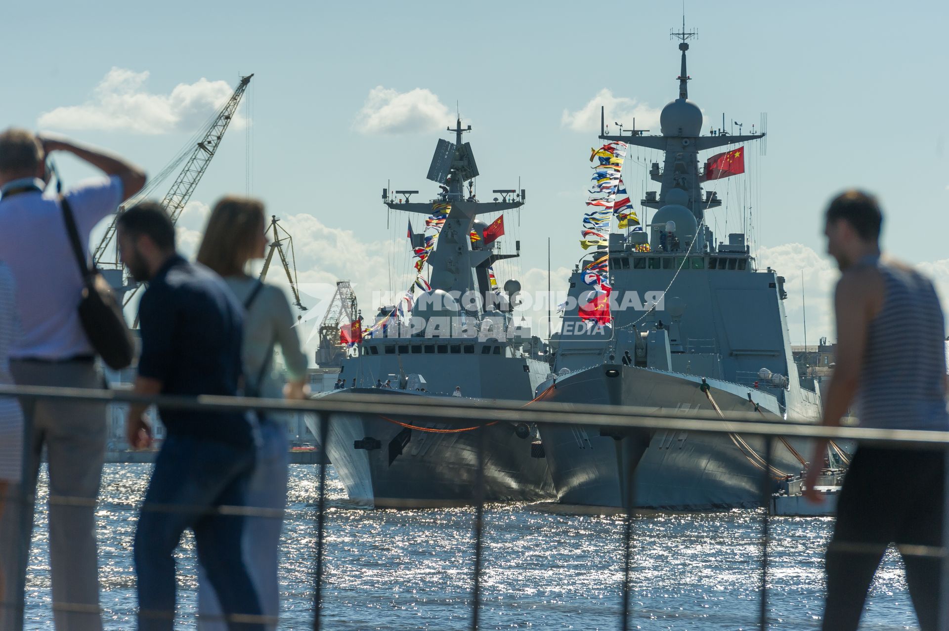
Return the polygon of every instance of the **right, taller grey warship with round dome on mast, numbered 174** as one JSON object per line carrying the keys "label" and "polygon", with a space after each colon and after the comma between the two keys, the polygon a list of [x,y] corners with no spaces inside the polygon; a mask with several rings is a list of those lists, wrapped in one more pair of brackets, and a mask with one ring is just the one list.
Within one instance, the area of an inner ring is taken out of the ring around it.
{"label": "right, taller grey warship with round dome on mast, numbered 174", "polygon": [[[688,100],[686,40],[681,50],[679,98],[661,111],[661,135],[600,139],[664,152],[663,168],[650,175],[659,195],[646,193],[653,209],[640,230],[613,233],[608,245],[585,255],[569,279],[568,310],[551,339],[553,372],[538,392],[545,400],[575,405],[629,405],[688,415],[696,411],[752,413],[757,417],[816,422],[819,389],[800,377],[791,356],[783,301],[784,278],[758,269],[743,233],[716,245],[705,221],[720,205],[703,192],[698,152],[761,139],[764,134],[702,136],[702,113]],[[621,131],[622,133],[622,131]],[[592,158],[591,158],[592,159]],[[642,230],[644,229],[644,230]],[[612,326],[591,328],[578,304],[590,287],[586,269],[608,256],[614,299]],[[631,293],[632,292],[632,293]],[[652,292],[652,293],[650,293]],[[633,300],[625,301],[632,295]],[[643,300],[643,297],[652,300]],[[579,331],[577,333],[576,331]],[[714,413],[714,412],[713,412]],[[642,508],[710,510],[757,505],[765,471],[764,441],[740,431],[703,435],[655,432],[641,439],[582,426],[540,427],[550,472],[562,503],[623,507],[625,473],[635,467],[634,504]],[[801,473],[804,441],[773,443],[771,475]],[[834,454],[835,456],[836,454]],[[831,457],[834,457],[831,456]],[[846,457],[846,456],[845,456]]]}

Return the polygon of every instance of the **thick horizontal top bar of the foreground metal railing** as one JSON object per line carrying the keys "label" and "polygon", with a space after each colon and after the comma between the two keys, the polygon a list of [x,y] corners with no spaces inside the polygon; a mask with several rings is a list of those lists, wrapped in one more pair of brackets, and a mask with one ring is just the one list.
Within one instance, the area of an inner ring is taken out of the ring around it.
{"label": "thick horizontal top bar of the foreground metal railing", "polygon": [[[445,397],[413,398],[403,402],[386,395],[348,395],[317,399],[254,399],[199,395],[180,397],[141,396],[134,392],[48,386],[0,385],[0,397],[16,396],[36,399],[87,400],[102,403],[149,403],[161,407],[207,412],[267,410],[273,412],[314,412],[320,414],[378,414],[417,417],[434,421],[444,418],[480,422],[542,422],[565,425],[593,425],[610,429],[673,430],[711,434],[740,432],[756,436],[799,438],[840,438],[889,444],[902,448],[944,449],[949,447],[949,432],[926,430],[888,430],[862,427],[824,427],[809,423],[791,423],[762,419],[760,414],[730,413],[718,418],[712,412],[693,411],[688,417],[673,412],[662,413],[648,408],[610,405],[585,405],[535,401],[526,407],[524,401],[492,400],[486,408],[484,400]],[[746,420],[747,419],[747,420]]]}

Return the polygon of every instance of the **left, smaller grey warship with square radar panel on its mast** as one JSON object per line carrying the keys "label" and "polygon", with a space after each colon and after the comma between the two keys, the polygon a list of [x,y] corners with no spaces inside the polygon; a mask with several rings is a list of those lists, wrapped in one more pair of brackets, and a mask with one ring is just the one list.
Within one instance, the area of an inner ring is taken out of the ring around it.
{"label": "left, smaller grey warship with square radar panel on its mast", "polygon": [[[504,294],[493,287],[493,263],[518,254],[501,253],[497,241],[485,238],[489,225],[478,218],[520,208],[525,192],[495,190],[500,199],[478,201],[471,185],[478,175],[474,154],[471,144],[462,142],[471,125],[462,128],[459,119],[448,131],[455,132],[456,141],[438,141],[428,174],[441,191],[435,199],[414,202],[411,195],[418,191],[382,192],[388,208],[427,215],[426,225],[440,226],[434,239],[411,235],[417,254],[428,248],[416,281],[424,290],[419,296],[413,289],[407,292],[410,313],[381,307],[362,343],[344,359],[340,377],[346,387],[320,396],[461,396],[490,405],[492,399],[530,401],[547,379],[546,344],[514,322],[508,295],[516,294],[519,284],[509,280]],[[307,421],[314,436],[320,436],[318,422]],[[469,425],[453,418],[429,422],[349,415],[330,422],[324,448],[352,501],[376,507],[457,506],[474,502],[478,433],[484,433],[485,500],[555,497],[547,460],[531,457],[536,428],[507,422],[481,429]]]}

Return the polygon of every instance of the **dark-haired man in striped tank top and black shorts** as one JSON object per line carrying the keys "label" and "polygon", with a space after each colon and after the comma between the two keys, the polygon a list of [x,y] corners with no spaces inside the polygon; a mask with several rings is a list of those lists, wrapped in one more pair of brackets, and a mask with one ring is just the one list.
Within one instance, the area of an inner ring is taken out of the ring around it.
{"label": "dark-haired man in striped tank top and black shorts", "polygon": [[[860,191],[838,195],[828,207],[828,253],[843,273],[834,296],[836,368],[822,422],[839,425],[852,403],[861,427],[949,430],[940,300],[919,271],[881,256],[882,223],[877,200]],[[805,482],[815,502],[826,449],[826,441],[815,445]],[[825,630],[857,628],[889,544],[941,546],[944,459],[941,452],[859,447],[828,545]],[[910,551],[901,548],[910,596],[921,629],[935,631],[940,559]]]}

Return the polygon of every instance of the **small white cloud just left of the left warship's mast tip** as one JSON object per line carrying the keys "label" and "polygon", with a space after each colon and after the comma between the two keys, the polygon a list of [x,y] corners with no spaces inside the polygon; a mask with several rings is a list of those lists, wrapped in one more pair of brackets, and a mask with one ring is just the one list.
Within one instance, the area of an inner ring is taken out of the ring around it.
{"label": "small white cloud just left of the left warship's mast tip", "polygon": [[377,85],[369,90],[353,127],[363,134],[410,134],[436,131],[452,118],[431,90],[399,92]]}

